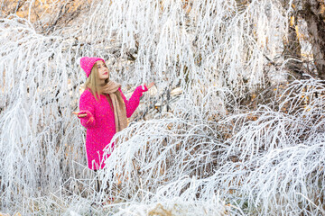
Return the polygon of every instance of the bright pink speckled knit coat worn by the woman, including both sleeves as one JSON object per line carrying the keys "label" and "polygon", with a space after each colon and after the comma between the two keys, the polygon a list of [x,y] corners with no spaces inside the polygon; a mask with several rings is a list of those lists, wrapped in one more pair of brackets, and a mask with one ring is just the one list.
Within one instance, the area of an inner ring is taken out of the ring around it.
{"label": "bright pink speckled knit coat worn by the woman, including both sleeves", "polygon": [[[129,100],[126,100],[121,88],[118,91],[121,93],[126,108],[126,117],[130,118],[139,105],[140,97],[148,88],[144,85],[137,86],[135,92]],[[109,100],[110,97],[108,95]],[[80,95],[79,101],[80,112],[88,113],[87,117],[79,118],[81,124],[87,129],[86,131],[86,152],[88,158],[88,167],[90,169],[101,169],[104,167],[103,149],[106,148],[110,140],[116,133],[116,124],[114,119],[113,109],[110,107],[107,97],[100,94],[98,101],[91,94],[89,89],[86,89]],[[112,144],[114,147],[114,143]],[[109,156],[107,156],[109,157]]]}

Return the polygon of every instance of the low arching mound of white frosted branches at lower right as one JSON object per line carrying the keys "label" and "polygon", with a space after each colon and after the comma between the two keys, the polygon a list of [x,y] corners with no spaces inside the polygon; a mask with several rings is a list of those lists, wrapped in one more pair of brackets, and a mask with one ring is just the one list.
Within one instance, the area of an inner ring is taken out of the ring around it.
{"label": "low arching mound of white frosted branches at lower right", "polygon": [[106,172],[114,169],[126,200],[129,193],[206,200],[219,191],[248,214],[324,213],[324,89],[314,79],[297,81],[274,109],[261,105],[220,121],[188,108],[183,116],[135,123],[116,136]]}

